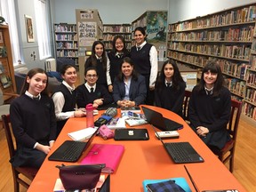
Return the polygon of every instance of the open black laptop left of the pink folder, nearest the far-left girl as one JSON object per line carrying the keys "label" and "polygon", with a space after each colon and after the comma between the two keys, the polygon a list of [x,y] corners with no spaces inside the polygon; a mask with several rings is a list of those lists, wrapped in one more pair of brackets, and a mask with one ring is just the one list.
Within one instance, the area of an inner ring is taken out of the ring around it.
{"label": "open black laptop left of the pink folder, nearest the far-left girl", "polygon": [[61,162],[76,162],[84,151],[89,148],[92,140],[95,138],[100,127],[94,132],[87,142],[76,140],[65,140],[59,148],[57,148],[51,156],[48,157],[50,161]]}

